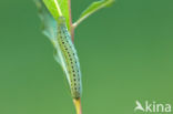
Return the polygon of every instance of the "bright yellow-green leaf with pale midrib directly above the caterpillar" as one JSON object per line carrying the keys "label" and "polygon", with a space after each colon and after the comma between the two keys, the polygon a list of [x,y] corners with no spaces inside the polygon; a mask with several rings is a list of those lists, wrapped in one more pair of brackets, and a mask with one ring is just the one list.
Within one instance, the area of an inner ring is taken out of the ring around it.
{"label": "bright yellow-green leaf with pale midrib directly above the caterpillar", "polygon": [[[55,20],[62,15],[67,19],[68,30],[70,31],[70,9],[69,0],[43,0],[44,4]],[[60,9],[60,11],[59,11]]]}

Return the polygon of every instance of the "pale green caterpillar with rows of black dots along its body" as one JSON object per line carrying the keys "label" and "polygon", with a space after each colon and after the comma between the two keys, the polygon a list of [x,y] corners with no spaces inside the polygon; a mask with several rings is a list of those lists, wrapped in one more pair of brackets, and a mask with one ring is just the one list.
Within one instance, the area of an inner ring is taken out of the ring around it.
{"label": "pale green caterpillar with rows of black dots along its body", "polygon": [[81,84],[81,70],[79,58],[74,48],[74,44],[71,40],[71,35],[68,31],[65,24],[65,18],[60,17],[58,19],[58,48],[59,48],[59,58],[61,59],[61,65],[65,69],[72,97],[78,100],[81,96],[82,84]]}

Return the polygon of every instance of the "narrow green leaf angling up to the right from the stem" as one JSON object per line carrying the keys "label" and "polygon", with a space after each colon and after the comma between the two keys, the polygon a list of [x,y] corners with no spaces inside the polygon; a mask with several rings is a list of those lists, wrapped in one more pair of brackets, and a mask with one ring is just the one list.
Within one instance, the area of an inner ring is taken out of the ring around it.
{"label": "narrow green leaf angling up to the right from the stem", "polygon": [[96,12],[98,10],[105,8],[110,4],[112,4],[114,2],[114,0],[101,0],[101,1],[96,1],[91,3],[86,10],[84,10],[80,17],[80,19],[73,24],[73,27],[77,27],[78,24],[80,24],[84,19],[86,19],[89,15],[91,15],[92,13]]}

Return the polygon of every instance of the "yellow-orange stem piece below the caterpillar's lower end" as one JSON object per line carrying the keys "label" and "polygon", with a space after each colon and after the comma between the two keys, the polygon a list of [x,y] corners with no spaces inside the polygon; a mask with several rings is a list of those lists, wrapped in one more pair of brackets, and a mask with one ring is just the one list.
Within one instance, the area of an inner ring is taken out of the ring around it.
{"label": "yellow-orange stem piece below the caterpillar's lower end", "polygon": [[77,114],[82,114],[81,99],[73,99]]}

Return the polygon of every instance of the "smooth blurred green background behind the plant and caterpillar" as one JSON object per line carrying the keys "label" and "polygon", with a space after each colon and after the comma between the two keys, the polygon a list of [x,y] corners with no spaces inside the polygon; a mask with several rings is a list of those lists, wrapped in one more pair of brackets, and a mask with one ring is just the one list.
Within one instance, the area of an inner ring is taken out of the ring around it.
{"label": "smooth blurred green background behind the plant and caterpillar", "polygon": [[[73,21],[92,1],[72,0]],[[0,14],[0,114],[74,114],[33,1],[1,0]],[[116,0],[80,24],[75,46],[83,114],[173,105],[173,0]]]}

